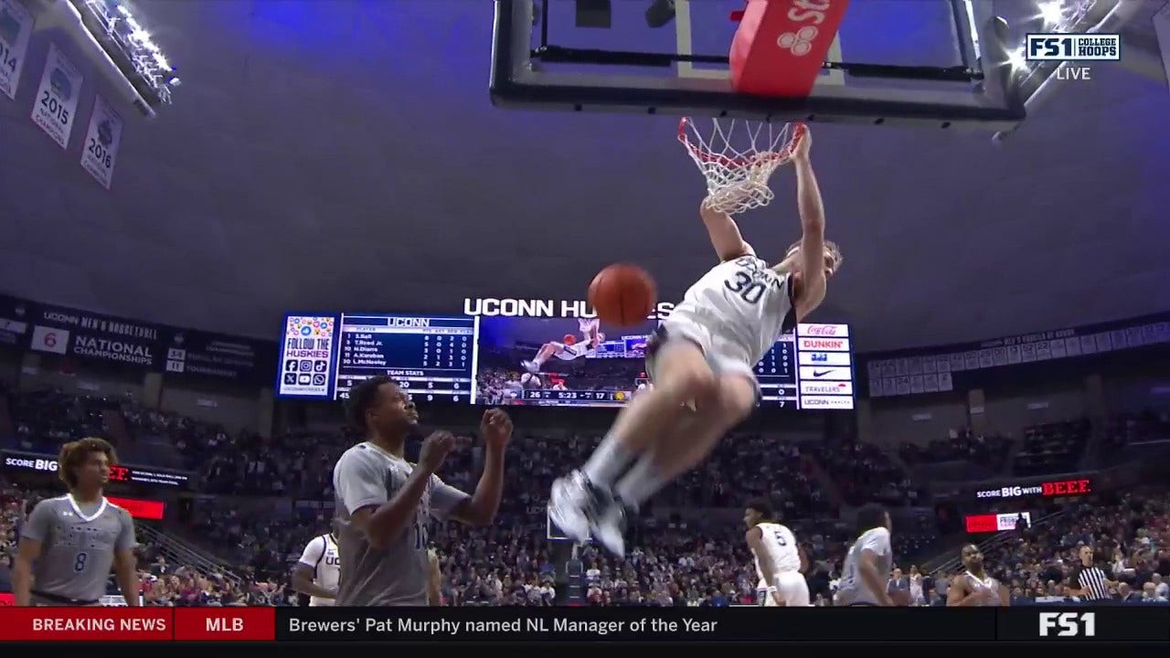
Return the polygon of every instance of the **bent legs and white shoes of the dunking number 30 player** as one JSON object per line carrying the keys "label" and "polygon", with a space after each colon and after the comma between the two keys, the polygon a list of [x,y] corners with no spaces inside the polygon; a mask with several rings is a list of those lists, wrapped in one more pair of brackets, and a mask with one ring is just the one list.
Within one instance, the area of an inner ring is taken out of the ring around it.
{"label": "bent legs and white shoes of the dunking number 30 player", "polygon": [[750,366],[720,368],[717,375],[703,349],[682,336],[666,338],[653,351],[653,388],[618,414],[579,471],[553,484],[549,501],[553,522],[567,536],[585,541],[592,526],[618,555],[625,553],[626,508],[636,508],[701,462],[756,406]]}

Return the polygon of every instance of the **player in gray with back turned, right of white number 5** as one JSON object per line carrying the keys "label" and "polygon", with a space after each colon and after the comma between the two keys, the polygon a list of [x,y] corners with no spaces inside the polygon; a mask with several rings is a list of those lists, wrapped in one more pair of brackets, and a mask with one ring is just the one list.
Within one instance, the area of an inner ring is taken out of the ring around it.
{"label": "player in gray with back turned, right of white number 5", "polygon": [[858,509],[858,541],[853,542],[841,568],[837,605],[894,605],[886,591],[894,549],[890,546],[889,512],[880,505]]}

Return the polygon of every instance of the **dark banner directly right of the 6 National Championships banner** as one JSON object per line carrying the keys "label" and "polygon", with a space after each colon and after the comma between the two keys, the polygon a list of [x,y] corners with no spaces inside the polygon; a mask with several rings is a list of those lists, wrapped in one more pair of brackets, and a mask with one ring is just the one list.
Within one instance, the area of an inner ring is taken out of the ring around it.
{"label": "dark banner directly right of the 6 National Championships banner", "polygon": [[245,384],[270,384],[276,344],[206,331],[165,329],[160,371]]}

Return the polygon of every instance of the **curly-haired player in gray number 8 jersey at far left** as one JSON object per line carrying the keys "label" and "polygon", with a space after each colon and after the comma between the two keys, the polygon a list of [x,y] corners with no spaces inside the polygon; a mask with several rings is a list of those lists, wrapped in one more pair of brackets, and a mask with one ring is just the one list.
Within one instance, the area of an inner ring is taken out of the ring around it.
{"label": "curly-haired player in gray number 8 jersey at far left", "polygon": [[28,515],[12,573],[16,605],[97,605],[111,567],[126,605],[138,605],[135,525],[102,495],[115,461],[103,439],[61,448],[57,475],[69,493],[42,500]]}

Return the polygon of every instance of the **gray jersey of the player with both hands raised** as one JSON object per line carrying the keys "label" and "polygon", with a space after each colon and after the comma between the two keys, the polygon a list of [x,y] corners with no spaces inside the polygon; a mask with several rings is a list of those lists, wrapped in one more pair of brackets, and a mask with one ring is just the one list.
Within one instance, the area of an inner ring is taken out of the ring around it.
{"label": "gray jersey of the player with both hands raised", "polygon": [[337,546],[342,560],[337,605],[426,605],[431,562],[427,523],[447,514],[468,495],[431,475],[413,523],[385,549],[376,549],[351,515],[394,496],[414,466],[371,443],[342,454],[333,467]]}

